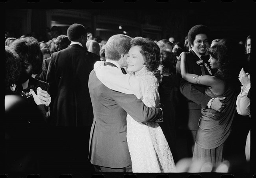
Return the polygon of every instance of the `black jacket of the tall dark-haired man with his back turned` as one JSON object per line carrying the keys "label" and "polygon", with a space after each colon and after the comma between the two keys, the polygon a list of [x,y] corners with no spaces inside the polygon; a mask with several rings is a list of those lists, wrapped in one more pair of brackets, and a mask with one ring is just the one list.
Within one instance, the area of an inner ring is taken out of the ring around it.
{"label": "black jacket of the tall dark-haired man with his back turned", "polygon": [[52,54],[46,81],[50,84],[50,119],[54,119],[54,125],[91,127],[93,108],[88,78],[96,61],[100,56],[78,44]]}

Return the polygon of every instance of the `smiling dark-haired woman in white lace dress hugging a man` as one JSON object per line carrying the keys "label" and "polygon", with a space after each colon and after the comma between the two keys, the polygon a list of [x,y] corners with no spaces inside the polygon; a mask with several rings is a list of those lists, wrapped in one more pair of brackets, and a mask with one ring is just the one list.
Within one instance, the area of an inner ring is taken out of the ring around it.
{"label": "smiling dark-haired woman in white lace dress hugging a man", "polygon": [[[112,90],[134,94],[145,105],[159,106],[158,81],[154,76],[160,48],[147,38],[135,37],[127,56],[128,74],[118,68],[95,63],[98,79]],[[174,172],[171,150],[158,123],[140,123],[127,115],[127,143],[133,172]]]}

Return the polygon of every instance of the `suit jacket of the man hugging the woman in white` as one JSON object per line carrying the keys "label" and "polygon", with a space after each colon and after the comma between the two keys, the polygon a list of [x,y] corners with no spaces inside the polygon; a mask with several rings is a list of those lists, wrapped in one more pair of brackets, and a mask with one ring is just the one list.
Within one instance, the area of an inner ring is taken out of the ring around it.
{"label": "suit jacket of the man hugging the woman in white", "polygon": [[161,109],[148,108],[135,95],[110,90],[94,70],[88,86],[94,114],[89,143],[91,163],[111,168],[131,165],[126,141],[127,113],[136,121],[156,121],[162,117]]}

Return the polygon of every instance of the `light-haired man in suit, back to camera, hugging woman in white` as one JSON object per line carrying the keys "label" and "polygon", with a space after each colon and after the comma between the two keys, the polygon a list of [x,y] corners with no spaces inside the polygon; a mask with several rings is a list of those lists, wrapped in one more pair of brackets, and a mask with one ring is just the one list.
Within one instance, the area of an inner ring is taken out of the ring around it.
{"label": "light-haired man in suit, back to camera, hugging woman in white", "polygon": [[[131,38],[113,35],[105,48],[105,65],[122,70]],[[89,76],[89,92],[93,105],[94,120],[91,127],[90,161],[96,172],[132,172],[132,162],[126,141],[127,113],[139,122],[162,120],[161,108],[149,108],[135,97],[107,88],[94,70]]]}

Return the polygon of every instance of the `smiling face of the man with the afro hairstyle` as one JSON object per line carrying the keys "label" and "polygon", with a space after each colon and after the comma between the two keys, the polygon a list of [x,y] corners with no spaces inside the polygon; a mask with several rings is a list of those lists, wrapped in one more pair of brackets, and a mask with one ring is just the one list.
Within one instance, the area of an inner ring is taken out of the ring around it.
{"label": "smiling face of the man with the afro hairstyle", "polygon": [[195,40],[193,41],[192,49],[199,55],[205,55],[209,48],[208,37],[204,33],[197,34]]}

